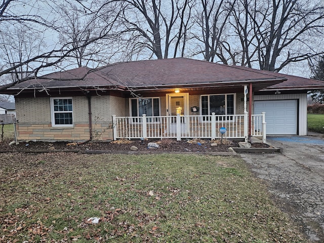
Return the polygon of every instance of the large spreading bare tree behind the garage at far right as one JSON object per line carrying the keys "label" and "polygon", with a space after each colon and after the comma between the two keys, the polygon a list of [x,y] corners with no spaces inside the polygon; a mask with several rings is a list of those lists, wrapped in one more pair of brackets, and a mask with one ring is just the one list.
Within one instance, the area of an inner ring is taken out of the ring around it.
{"label": "large spreading bare tree behind the garage at far right", "polygon": [[243,66],[258,63],[262,70],[280,71],[322,54],[316,50],[324,36],[322,1],[239,0],[230,23],[240,43],[236,61]]}

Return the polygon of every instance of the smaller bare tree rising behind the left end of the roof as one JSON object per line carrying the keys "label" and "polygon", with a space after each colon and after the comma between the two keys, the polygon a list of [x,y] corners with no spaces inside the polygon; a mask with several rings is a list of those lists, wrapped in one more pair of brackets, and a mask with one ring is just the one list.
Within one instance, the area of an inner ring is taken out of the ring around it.
{"label": "smaller bare tree rising behind the left end of the roof", "polygon": [[[114,28],[120,9],[110,5],[105,8],[103,18],[95,9],[85,11],[80,7],[83,6],[68,3],[58,8],[58,14],[62,16],[59,28],[60,42],[70,43],[70,48],[73,49],[67,59],[71,60],[72,64],[76,62],[78,67],[107,64],[111,53],[110,47],[117,37]],[[101,38],[91,42],[98,36]],[[89,45],[85,45],[87,43]]]}

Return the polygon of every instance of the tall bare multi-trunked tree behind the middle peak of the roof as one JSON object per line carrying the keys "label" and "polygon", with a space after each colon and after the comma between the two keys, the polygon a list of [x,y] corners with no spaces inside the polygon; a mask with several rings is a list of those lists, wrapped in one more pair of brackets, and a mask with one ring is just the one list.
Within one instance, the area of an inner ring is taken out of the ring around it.
{"label": "tall bare multi-trunked tree behind the middle peak of the roof", "polygon": [[133,53],[133,50],[148,51],[149,58],[157,59],[168,58],[171,53],[177,56],[178,48],[186,39],[193,0],[117,2],[123,4],[120,23],[124,26],[125,38],[134,44]]}

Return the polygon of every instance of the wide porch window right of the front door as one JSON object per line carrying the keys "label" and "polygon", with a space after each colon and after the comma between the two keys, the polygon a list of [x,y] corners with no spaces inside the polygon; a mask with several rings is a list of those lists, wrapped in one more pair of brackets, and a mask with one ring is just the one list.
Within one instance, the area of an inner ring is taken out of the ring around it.
{"label": "wide porch window right of the front door", "polygon": [[[224,95],[202,95],[201,99],[201,115],[211,115],[215,112],[216,115],[232,115],[234,114],[234,94]],[[227,119],[232,119],[232,116],[226,116]],[[225,119],[225,117],[220,117]],[[203,117],[203,120],[210,120],[210,117]]]}

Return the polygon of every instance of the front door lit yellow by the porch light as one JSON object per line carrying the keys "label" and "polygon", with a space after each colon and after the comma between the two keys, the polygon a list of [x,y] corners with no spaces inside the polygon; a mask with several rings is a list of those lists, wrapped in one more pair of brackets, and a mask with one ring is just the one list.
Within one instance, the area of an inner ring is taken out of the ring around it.
{"label": "front door lit yellow by the porch light", "polygon": [[172,116],[169,123],[169,131],[171,133],[176,132],[177,125],[175,116],[177,114],[181,116],[181,131],[186,131],[186,119],[184,115],[189,114],[188,101],[188,93],[167,94],[167,115]]}

